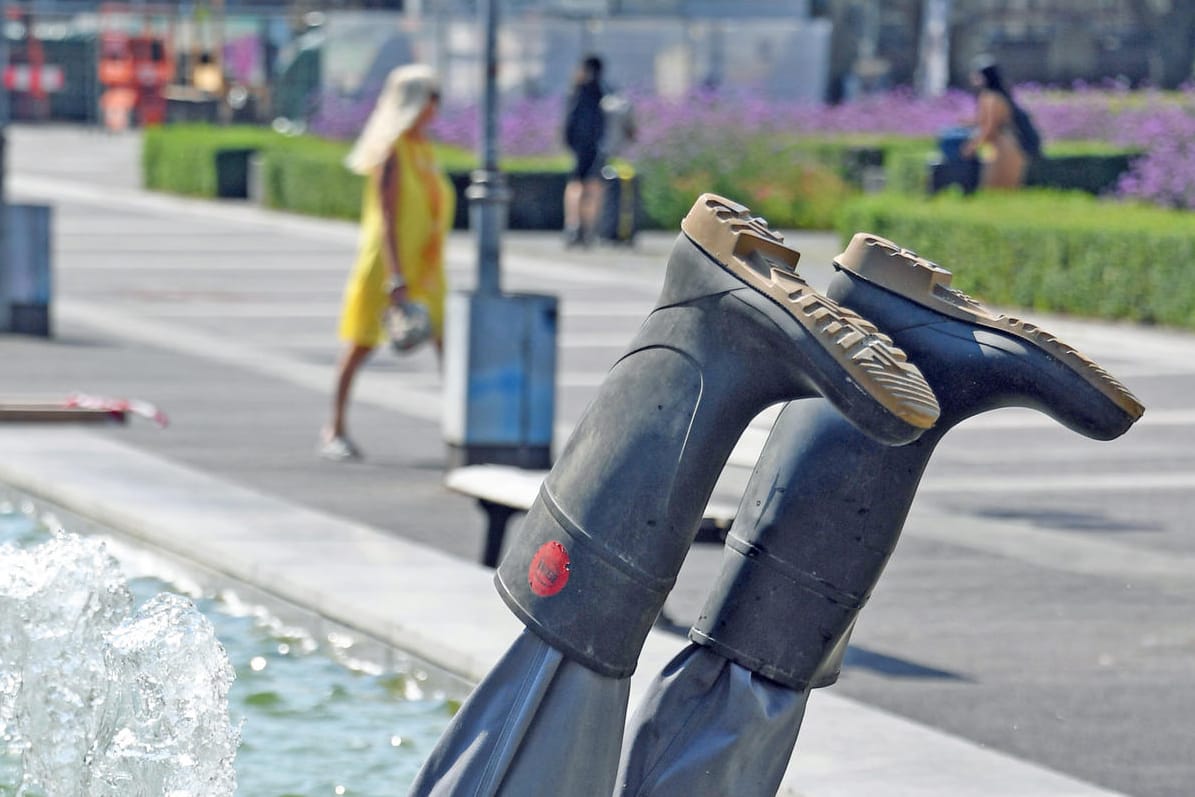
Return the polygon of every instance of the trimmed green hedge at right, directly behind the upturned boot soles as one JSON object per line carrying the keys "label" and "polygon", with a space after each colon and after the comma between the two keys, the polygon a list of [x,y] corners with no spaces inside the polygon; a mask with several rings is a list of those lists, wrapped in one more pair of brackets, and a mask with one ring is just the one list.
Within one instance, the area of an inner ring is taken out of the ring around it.
{"label": "trimmed green hedge at right, directly behind the upturned boot soles", "polygon": [[1195,329],[1195,216],[1079,191],[862,197],[844,240],[889,238],[997,306]]}

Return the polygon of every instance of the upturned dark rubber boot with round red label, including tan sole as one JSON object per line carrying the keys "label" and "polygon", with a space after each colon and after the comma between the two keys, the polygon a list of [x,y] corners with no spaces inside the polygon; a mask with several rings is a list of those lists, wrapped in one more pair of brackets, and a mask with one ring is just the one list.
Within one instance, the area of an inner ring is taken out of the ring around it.
{"label": "upturned dark rubber boot with round red label, including tan sole", "polygon": [[903,352],[803,282],[797,252],[746,208],[707,194],[681,229],[656,308],[577,423],[495,576],[528,629],[611,678],[635,670],[713,484],[755,415],[825,396],[876,445],[908,442],[938,415]]}

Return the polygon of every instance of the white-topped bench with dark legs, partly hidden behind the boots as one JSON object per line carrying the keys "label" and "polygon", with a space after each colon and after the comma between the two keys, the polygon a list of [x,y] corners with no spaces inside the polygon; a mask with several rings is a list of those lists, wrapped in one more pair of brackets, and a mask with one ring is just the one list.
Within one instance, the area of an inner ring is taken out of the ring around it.
{"label": "white-topped bench with dark legs, partly hidden behind the boots", "polygon": [[[485,513],[486,529],[482,564],[488,568],[497,566],[508,521],[515,514],[531,509],[546,476],[547,471],[529,471],[509,465],[468,465],[448,471],[445,486],[476,498]],[[736,501],[712,498],[705,507],[705,515],[694,542],[722,545],[737,509]]]}

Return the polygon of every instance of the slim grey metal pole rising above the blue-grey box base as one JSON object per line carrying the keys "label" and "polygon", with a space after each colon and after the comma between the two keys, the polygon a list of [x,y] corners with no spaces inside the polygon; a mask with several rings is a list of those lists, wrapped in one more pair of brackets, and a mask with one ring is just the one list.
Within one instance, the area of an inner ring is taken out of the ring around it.
{"label": "slim grey metal pole rising above the blue-grey box base", "polygon": [[477,293],[501,293],[501,238],[510,192],[498,171],[498,0],[482,1],[482,24],[485,30],[483,45],[482,141],[478,157],[482,168],[472,174],[465,192],[470,202],[470,219],[474,222],[478,241]]}

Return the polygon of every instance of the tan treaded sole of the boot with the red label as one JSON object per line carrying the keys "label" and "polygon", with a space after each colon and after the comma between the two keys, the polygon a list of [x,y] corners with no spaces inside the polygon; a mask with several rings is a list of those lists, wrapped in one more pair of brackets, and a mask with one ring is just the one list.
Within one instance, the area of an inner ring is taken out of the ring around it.
{"label": "tan treaded sole of the boot with the red label", "polygon": [[929,429],[938,419],[938,400],[917,366],[874,324],[802,280],[796,272],[799,252],[748,208],[703,194],[681,231],[797,321],[889,413],[915,429]]}

